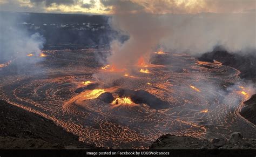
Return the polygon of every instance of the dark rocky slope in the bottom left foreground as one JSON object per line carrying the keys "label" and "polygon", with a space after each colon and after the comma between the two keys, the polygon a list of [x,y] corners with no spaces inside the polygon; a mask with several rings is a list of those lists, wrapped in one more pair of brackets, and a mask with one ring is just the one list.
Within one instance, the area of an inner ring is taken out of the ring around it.
{"label": "dark rocky slope in the bottom left foreground", "polygon": [[0,149],[96,148],[51,120],[0,100]]}

